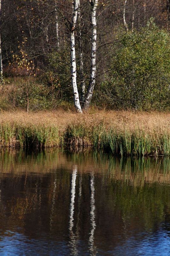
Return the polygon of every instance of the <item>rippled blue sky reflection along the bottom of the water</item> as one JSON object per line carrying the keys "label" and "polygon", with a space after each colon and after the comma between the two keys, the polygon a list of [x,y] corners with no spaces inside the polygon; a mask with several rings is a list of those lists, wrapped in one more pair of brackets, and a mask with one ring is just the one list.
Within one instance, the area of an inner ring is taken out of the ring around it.
{"label": "rippled blue sky reflection along the bottom of the water", "polygon": [[70,250],[69,240],[63,241],[50,240],[48,236],[42,239],[27,239],[26,236],[8,231],[7,234],[0,237],[0,255],[2,256],[64,256],[64,255],[99,255],[99,256],[169,256],[170,255],[170,232],[161,228],[152,233],[145,233],[146,238],[131,236],[117,244],[111,250],[101,250],[95,246],[95,252],[91,253],[88,243],[77,241],[77,250],[74,254]]}

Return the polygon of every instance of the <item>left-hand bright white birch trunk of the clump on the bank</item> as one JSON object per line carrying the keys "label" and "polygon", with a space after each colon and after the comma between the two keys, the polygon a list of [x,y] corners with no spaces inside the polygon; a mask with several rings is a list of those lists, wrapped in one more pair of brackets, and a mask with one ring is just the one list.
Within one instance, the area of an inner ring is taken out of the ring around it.
{"label": "left-hand bright white birch trunk of the clump on the bank", "polygon": [[75,36],[74,29],[76,26],[78,14],[78,0],[73,1],[73,14],[70,24],[70,46],[71,46],[71,85],[73,89],[74,106],[79,113],[82,109],[79,102],[78,89],[77,89],[77,73],[76,73],[76,51],[75,51]]}

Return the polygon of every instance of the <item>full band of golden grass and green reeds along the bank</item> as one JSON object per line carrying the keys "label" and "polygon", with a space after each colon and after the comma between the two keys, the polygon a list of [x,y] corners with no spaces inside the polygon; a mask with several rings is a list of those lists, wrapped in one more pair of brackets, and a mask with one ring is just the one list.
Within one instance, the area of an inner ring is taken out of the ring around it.
{"label": "full band of golden grass and green reeds along the bank", "polygon": [[90,148],[121,156],[170,155],[170,113],[0,113],[0,148],[47,147]]}

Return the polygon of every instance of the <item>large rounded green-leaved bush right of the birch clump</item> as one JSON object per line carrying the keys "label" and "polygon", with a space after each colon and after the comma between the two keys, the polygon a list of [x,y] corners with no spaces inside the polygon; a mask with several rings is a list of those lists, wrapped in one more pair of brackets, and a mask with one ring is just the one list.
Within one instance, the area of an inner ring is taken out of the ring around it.
{"label": "large rounded green-leaved bush right of the birch clump", "polygon": [[100,85],[102,99],[116,108],[170,108],[170,34],[151,19],[141,31],[127,32]]}

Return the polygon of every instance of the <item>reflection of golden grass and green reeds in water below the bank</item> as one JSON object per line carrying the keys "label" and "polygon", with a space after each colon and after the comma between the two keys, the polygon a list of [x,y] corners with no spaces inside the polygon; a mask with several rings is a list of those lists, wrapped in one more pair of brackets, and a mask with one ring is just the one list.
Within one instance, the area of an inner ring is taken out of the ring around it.
{"label": "reflection of golden grass and green reeds in water below the bank", "polygon": [[[142,186],[144,183],[170,184],[170,158],[169,157],[127,157],[119,158],[113,155],[100,153],[69,153],[63,152],[37,152],[25,154],[23,151],[5,151],[1,153],[0,179],[11,173],[13,176],[34,173],[40,175],[50,173],[51,170],[65,168],[72,171],[78,166],[80,173],[103,175],[108,180],[122,180],[132,186]],[[63,167],[62,167],[63,166]],[[64,169],[65,170],[65,169]],[[67,172],[64,171],[66,175]],[[66,175],[68,178],[68,176]],[[65,178],[66,178],[65,177]]]}

